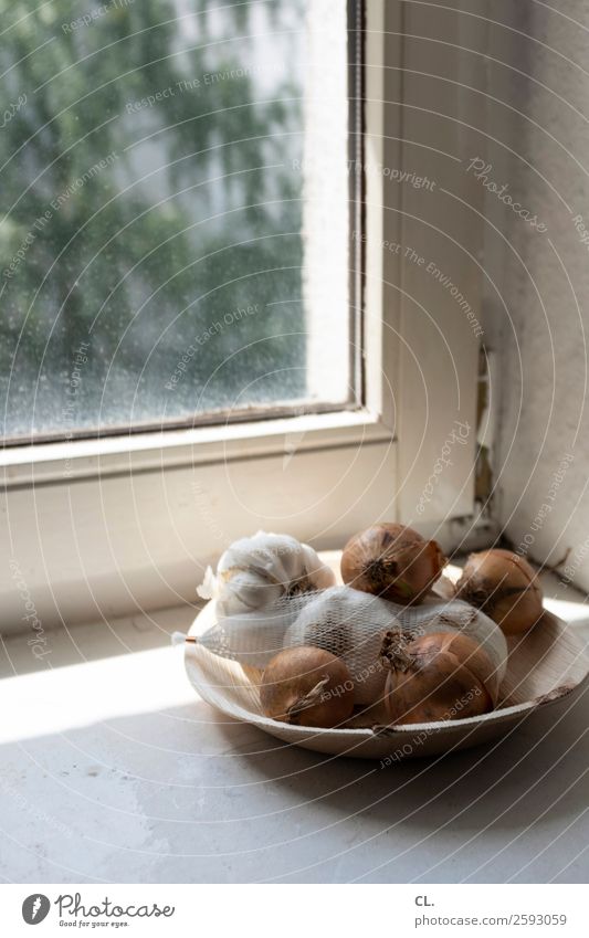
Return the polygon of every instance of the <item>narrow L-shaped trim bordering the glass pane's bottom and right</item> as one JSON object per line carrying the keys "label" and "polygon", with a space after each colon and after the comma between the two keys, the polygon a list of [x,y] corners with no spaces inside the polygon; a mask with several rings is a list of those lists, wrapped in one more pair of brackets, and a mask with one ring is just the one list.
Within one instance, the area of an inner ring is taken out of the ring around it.
{"label": "narrow L-shaped trim bordering the glass pane's bottom and right", "polygon": [[[366,73],[367,54],[381,59],[377,46],[382,42],[382,0],[370,6],[367,0],[347,0],[348,46],[356,51],[348,63],[348,114],[354,130],[350,133],[348,158],[350,166],[360,165],[361,172],[349,172],[349,304],[350,375],[354,375],[354,400],[340,405],[318,402],[308,407],[288,403],[260,407],[253,413],[198,414],[188,419],[170,419],[164,424],[114,425],[108,429],[69,429],[67,434],[39,434],[28,438],[7,438],[0,451],[0,470],[8,487],[56,482],[66,473],[69,478],[103,476],[119,468],[146,470],[167,465],[194,464],[211,459],[231,459],[233,451],[240,456],[281,452],[284,433],[308,434],[308,447],[317,445],[348,445],[353,442],[391,441],[393,425],[391,413],[383,412],[386,380],[381,387],[367,381],[367,373],[378,370],[381,362],[382,338],[377,335],[381,319],[381,297],[370,295],[371,320],[366,312],[366,240],[355,232],[365,230],[368,221],[366,203],[367,177],[372,172],[366,161],[365,139],[367,126]],[[369,22],[370,21],[370,22]],[[367,53],[367,46],[370,46]],[[378,93],[380,85],[372,88]],[[372,95],[374,97],[374,95]],[[378,116],[374,110],[374,119]],[[358,137],[360,139],[358,139]],[[375,179],[372,196],[380,201],[381,179]],[[385,333],[385,330],[382,330]],[[386,337],[388,345],[389,337]],[[353,347],[360,347],[358,355]]]}

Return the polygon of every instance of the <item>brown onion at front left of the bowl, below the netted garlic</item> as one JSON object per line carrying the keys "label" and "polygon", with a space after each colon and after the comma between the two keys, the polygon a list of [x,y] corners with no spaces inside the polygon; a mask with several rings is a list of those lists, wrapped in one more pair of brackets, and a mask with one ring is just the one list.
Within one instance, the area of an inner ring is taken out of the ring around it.
{"label": "brown onion at front left of the bowl, below the netted garlic", "polygon": [[344,662],[323,649],[284,649],[264,670],[260,700],[281,723],[335,727],[351,716],[354,682]]}

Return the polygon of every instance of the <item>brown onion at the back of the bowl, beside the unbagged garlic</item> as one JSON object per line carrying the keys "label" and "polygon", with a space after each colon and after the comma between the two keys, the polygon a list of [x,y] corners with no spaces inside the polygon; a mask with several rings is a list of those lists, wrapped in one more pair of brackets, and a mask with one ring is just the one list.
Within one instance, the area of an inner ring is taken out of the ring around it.
{"label": "brown onion at the back of the bowl, beside the unbagged garlic", "polygon": [[404,525],[372,525],[348,540],[341,555],[345,583],[393,602],[419,603],[445,563],[440,546]]}

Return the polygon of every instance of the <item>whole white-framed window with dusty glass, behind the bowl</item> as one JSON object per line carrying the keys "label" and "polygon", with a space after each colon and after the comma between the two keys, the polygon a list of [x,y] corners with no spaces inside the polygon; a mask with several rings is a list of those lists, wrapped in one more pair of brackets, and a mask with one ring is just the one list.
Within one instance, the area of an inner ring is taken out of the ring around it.
{"label": "whole white-framed window with dusty glass, behind the bowl", "polygon": [[[22,628],[14,569],[44,626],[109,623],[193,602],[204,566],[260,528],[328,549],[386,518],[455,545],[474,433],[444,467],[448,497],[416,506],[449,421],[474,425],[478,349],[449,292],[391,246],[462,283],[478,228],[449,209],[451,175],[433,192],[400,181],[433,178],[452,126],[432,124],[428,48],[403,34],[417,8],[0,9],[0,278],[17,259],[0,382],[18,444],[0,451],[0,626]],[[19,68],[34,81],[19,87]]]}

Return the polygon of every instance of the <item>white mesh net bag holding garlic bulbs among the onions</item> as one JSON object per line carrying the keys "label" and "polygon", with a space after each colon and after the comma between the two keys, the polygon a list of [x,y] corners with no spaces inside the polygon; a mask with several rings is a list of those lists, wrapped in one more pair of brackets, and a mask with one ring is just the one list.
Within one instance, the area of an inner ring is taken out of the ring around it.
{"label": "white mesh net bag holding garlic bulbs among the onions", "polygon": [[404,607],[350,587],[332,587],[283,598],[265,611],[219,616],[198,643],[254,668],[264,668],[284,647],[325,649],[346,663],[355,684],[355,704],[365,705],[383,694],[387,670],[380,651],[390,631],[414,636],[464,631],[490,655],[496,686],[503,681],[507,644],[498,626],[465,602],[433,597],[420,605]]}

